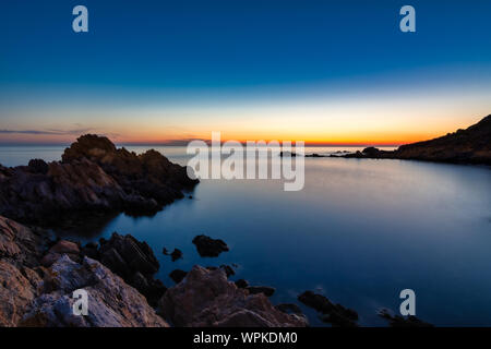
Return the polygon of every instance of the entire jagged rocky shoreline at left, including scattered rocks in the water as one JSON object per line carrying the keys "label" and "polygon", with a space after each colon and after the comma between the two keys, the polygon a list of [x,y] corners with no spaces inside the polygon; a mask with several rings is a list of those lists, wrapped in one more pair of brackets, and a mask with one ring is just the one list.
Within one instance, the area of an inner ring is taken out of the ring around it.
{"label": "entire jagged rocky shoreline at left, including scattered rocks in the water", "polygon": [[[170,275],[176,285],[167,288],[154,277],[160,265],[152,248],[131,234],[115,232],[82,245],[53,240],[45,229],[63,216],[152,214],[196,183],[184,167],[155,151],[136,155],[95,135],[81,136],[62,161],[0,166],[0,326],[308,326],[297,304],[272,304],[274,288],[229,281],[236,265],[176,269]],[[229,252],[225,241],[204,234],[190,243],[202,257]],[[169,255],[173,262],[182,252]],[[88,294],[85,316],[72,310],[79,289]],[[298,300],[325,323],[358,326],[355,311],[322,294],[306,291]],[[381,316],[393,326],[428,325],[387,312]]]}

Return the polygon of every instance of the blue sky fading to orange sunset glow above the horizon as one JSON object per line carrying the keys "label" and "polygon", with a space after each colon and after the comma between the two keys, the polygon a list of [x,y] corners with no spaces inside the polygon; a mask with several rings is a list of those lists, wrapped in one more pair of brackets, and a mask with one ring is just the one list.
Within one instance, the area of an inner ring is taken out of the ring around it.
{"label": "blue sky fading to orange sunset glow above the horizon", "polygon": [[431,139],[491,113],[490,15],[489,0],[2,1],[0,144]]}

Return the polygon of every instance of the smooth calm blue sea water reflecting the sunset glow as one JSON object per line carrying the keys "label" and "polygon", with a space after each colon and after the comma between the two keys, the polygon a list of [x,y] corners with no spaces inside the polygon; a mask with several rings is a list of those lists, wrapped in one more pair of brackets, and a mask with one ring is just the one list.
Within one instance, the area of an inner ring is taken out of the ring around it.
{"label": "smooth calm blue sea water reflecting the sunset glow", "polygon": [[[145,147],[130,147],[142,152]],[[185,164],[184,149],[158,148]],[[59,159],[60,147],[0,147],[0,163]],[[333,148],[308,149],[330,153]],[[280,181],[202,181],[192,195],[152,218],[119,215],[96,237],[132,233],[154,249],[168,286],[175,268],[237,263],[232,279],[277,289],[296,302],[312,289],[357,310],[362,325],[384,325],[376,310],[398,310],[416,291],[417,316],[436,325],[491,325],[491,169],[399,160],[307,158],[306,186]],[[199,233],[230,252],[199,256]],[[179,248],[171,262],[161,249]],[[322,325],[302,306],[311,324]]]}

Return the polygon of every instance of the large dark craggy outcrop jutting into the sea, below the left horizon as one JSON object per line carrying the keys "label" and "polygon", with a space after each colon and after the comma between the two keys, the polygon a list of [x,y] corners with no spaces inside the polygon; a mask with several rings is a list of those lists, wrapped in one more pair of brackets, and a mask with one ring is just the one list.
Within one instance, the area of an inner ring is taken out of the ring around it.
{"label": "large dark craggy outcrop jutting into the sea, below the left horizon", "polygon": [[196,183],[155,151],[136,155],[107,137],[84,135],[65,149],[62,163],[0,165],[0,215],[57,226],[61,217],[91,212],[154,214]]}

